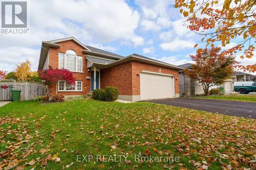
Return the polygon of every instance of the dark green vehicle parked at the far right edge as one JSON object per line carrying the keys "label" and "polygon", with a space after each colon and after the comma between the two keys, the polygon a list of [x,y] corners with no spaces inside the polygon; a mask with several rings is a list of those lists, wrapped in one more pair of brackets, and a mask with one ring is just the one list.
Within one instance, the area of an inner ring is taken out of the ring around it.
{"label": "dark green vehicle parked at the far right edge", "polygon": [[238,91],[241,94],[256,92],[256,82],[234,82],[234,91]]}

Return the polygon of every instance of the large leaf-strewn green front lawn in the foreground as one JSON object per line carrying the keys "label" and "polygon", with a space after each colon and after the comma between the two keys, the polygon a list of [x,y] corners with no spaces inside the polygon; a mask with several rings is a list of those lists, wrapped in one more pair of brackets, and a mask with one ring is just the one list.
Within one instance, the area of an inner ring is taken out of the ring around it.
{"label": "large leaf-strewn green front lawn in the foreground", "polygon": [[0,169],[252,169],[255,130],[254,119],[145,102],[12,102],[0,107]]}

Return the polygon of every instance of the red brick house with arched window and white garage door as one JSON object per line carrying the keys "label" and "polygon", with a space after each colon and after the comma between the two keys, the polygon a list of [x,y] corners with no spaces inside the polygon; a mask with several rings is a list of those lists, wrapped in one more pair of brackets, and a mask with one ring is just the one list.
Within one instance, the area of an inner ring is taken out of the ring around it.
{"label": "red brick house with arched window and white garage door", "polygon": [[[119,99],[126,101],[179,97],[182,68],[137,54],[123,57],[84,45],[74,37],[42,41],[38,69],[48,65],[74,72],[75,86],[58,83],[58,94],[65,96],[115,86]],[[50,85],[49,93],[55,91],[55,86]]]}

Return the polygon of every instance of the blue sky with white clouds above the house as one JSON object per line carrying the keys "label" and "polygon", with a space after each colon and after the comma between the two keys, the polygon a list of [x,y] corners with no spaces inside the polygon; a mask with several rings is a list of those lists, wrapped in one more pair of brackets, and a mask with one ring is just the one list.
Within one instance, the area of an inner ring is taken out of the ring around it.
{"label": "blue sky with white clouds above the house", "polygon": [[[173,1],[28,0],[29,34],[0,34],[0,69],[28,58],[37,69],[41,41],[74,36],[122,56],[137,53],[170,64],[191,62],[201,39],[183,26]],[[203,46],[202,46],[203,47]],[[254,59],[243,64],[255,63]]]}

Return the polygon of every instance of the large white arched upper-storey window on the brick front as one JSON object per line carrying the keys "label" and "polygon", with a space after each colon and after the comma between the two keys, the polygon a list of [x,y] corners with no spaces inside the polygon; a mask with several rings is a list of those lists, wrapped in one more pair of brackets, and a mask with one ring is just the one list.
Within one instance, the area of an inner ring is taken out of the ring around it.
{"label": "large white arched upper-storey window on the brick front", "polygon": [[67,50],[65,54],[59,53],[59,68],[82,72],[82,57],[77,56],[73,50]]}

